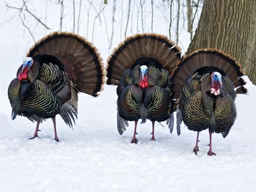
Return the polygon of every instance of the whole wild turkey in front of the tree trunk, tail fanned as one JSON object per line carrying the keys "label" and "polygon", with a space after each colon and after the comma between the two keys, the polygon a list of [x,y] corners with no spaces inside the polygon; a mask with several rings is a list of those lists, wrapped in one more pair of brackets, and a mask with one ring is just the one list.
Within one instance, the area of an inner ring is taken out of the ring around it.
{"label": "whole wild turkey in front of the tree trunk, tail fanned", "polygon": [[200,131],[209,128],[208,155],[216,155],[212,152],[212,133],[227,137],[237,116],[236,94],[247,93],[242,75],[238,62],[218,49],[192,52],[173,72],[172,98],[179,99],[177,130],[183,120],[189,130],[198,131],[195,154]]}

